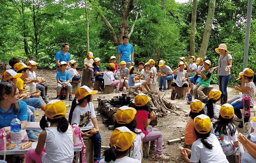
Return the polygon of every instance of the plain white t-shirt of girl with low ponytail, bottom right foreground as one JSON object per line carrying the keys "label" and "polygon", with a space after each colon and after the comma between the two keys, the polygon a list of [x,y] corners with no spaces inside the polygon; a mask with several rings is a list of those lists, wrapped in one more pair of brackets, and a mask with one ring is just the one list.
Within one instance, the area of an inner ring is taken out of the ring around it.
{"label": "plain white t-shirt of girl with low ponytail, bottom right foreground", "polygon": [[212,150],[204,146],[201,138],[197,139],[192,144],[190,162],[199,162],[200,160],[201,163],[229,163],[216,136],[210,134],[206,140],[213,145]]}

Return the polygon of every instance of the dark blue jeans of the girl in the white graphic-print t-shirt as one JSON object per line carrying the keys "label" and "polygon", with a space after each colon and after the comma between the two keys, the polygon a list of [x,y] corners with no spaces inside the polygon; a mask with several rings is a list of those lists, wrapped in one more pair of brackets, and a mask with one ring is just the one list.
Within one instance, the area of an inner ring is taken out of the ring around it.
{"label": "dark blue jeans of the girl in the white graphic-print t-shirt", "polygon": [[[91,130],[91,129],[90,129]],[[90,130],[85,130],[83,132],[87,132]],[[96,134],[93,134],[90,137],[93,147],[94,147],[94,155],[93,155],[93,160],[97,161],[101,158],[101,134],[98,132]]]}

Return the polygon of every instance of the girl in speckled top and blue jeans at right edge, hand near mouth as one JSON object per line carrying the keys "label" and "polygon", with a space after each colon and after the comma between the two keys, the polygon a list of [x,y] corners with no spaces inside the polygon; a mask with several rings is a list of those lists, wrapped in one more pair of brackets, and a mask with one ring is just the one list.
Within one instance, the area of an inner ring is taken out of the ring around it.
{"label": "girl in speckled top and blue jeans at right edge, hand near mouth", "polygon": [[[255,93],[256,93],[256,88],[255,88],[255,83],[256,83],[256,76],[252,69],[250,68],[245,68],[241,76],[238,78],[241,78],[241,87],[236,85],[234,86],[235,90],[242,92],[242,97],[248,96],[251,99],[251,106],[254,106],[254,100],[255,100]],[[243,127],[243,120],[241,116],[241,109],[243,108],[243,101],[238,101],[236,103],[233,103],[232,106],[234,107],[235,114],[236,116],[240,119],[238,127],[242,128]],[[249,122],[250,116],[245,116],[244,117],[244,122]]]}

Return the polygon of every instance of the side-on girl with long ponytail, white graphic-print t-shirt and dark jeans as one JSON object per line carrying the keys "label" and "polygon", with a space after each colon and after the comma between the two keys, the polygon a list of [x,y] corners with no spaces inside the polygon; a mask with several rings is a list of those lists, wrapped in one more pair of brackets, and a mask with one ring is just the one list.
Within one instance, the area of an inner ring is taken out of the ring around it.
{"label": "side-on girl with long ponytail, white graphic-print t-shirt and dark jeans", "polygon": [[[98,121],[92,104],[92,95],[98,93],[87,86],[82,86],[75,92],[75,99],[69,112],[69,123],[78,125],[81,135],[92,140],[94,146],[94,161],[101,158],[101,135],[99,133]],[[78,99],[78,104],[76,103]],[[91,131],[92,130],[92,131]]]}

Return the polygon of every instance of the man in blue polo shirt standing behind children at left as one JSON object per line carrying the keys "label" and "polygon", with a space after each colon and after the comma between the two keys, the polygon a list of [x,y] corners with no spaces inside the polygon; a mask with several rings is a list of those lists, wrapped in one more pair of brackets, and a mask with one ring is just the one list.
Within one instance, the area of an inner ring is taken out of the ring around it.
{"label": "man in blue polo shirt standing behind children at left", "polygon": [[[60,71],[60,68],[59,68],[59,63],[60,62],[65,61],[69,65],[70,53],[68,51],[69,51],[69,44],[64,43],[64,44],[62,44],[62,50],[60,50],[56,53],[55,60],[56,60],[56,69],[57,69],[57,71]],[[69,69],[69,68],[70,67],[67,66],[67,69]]]}

